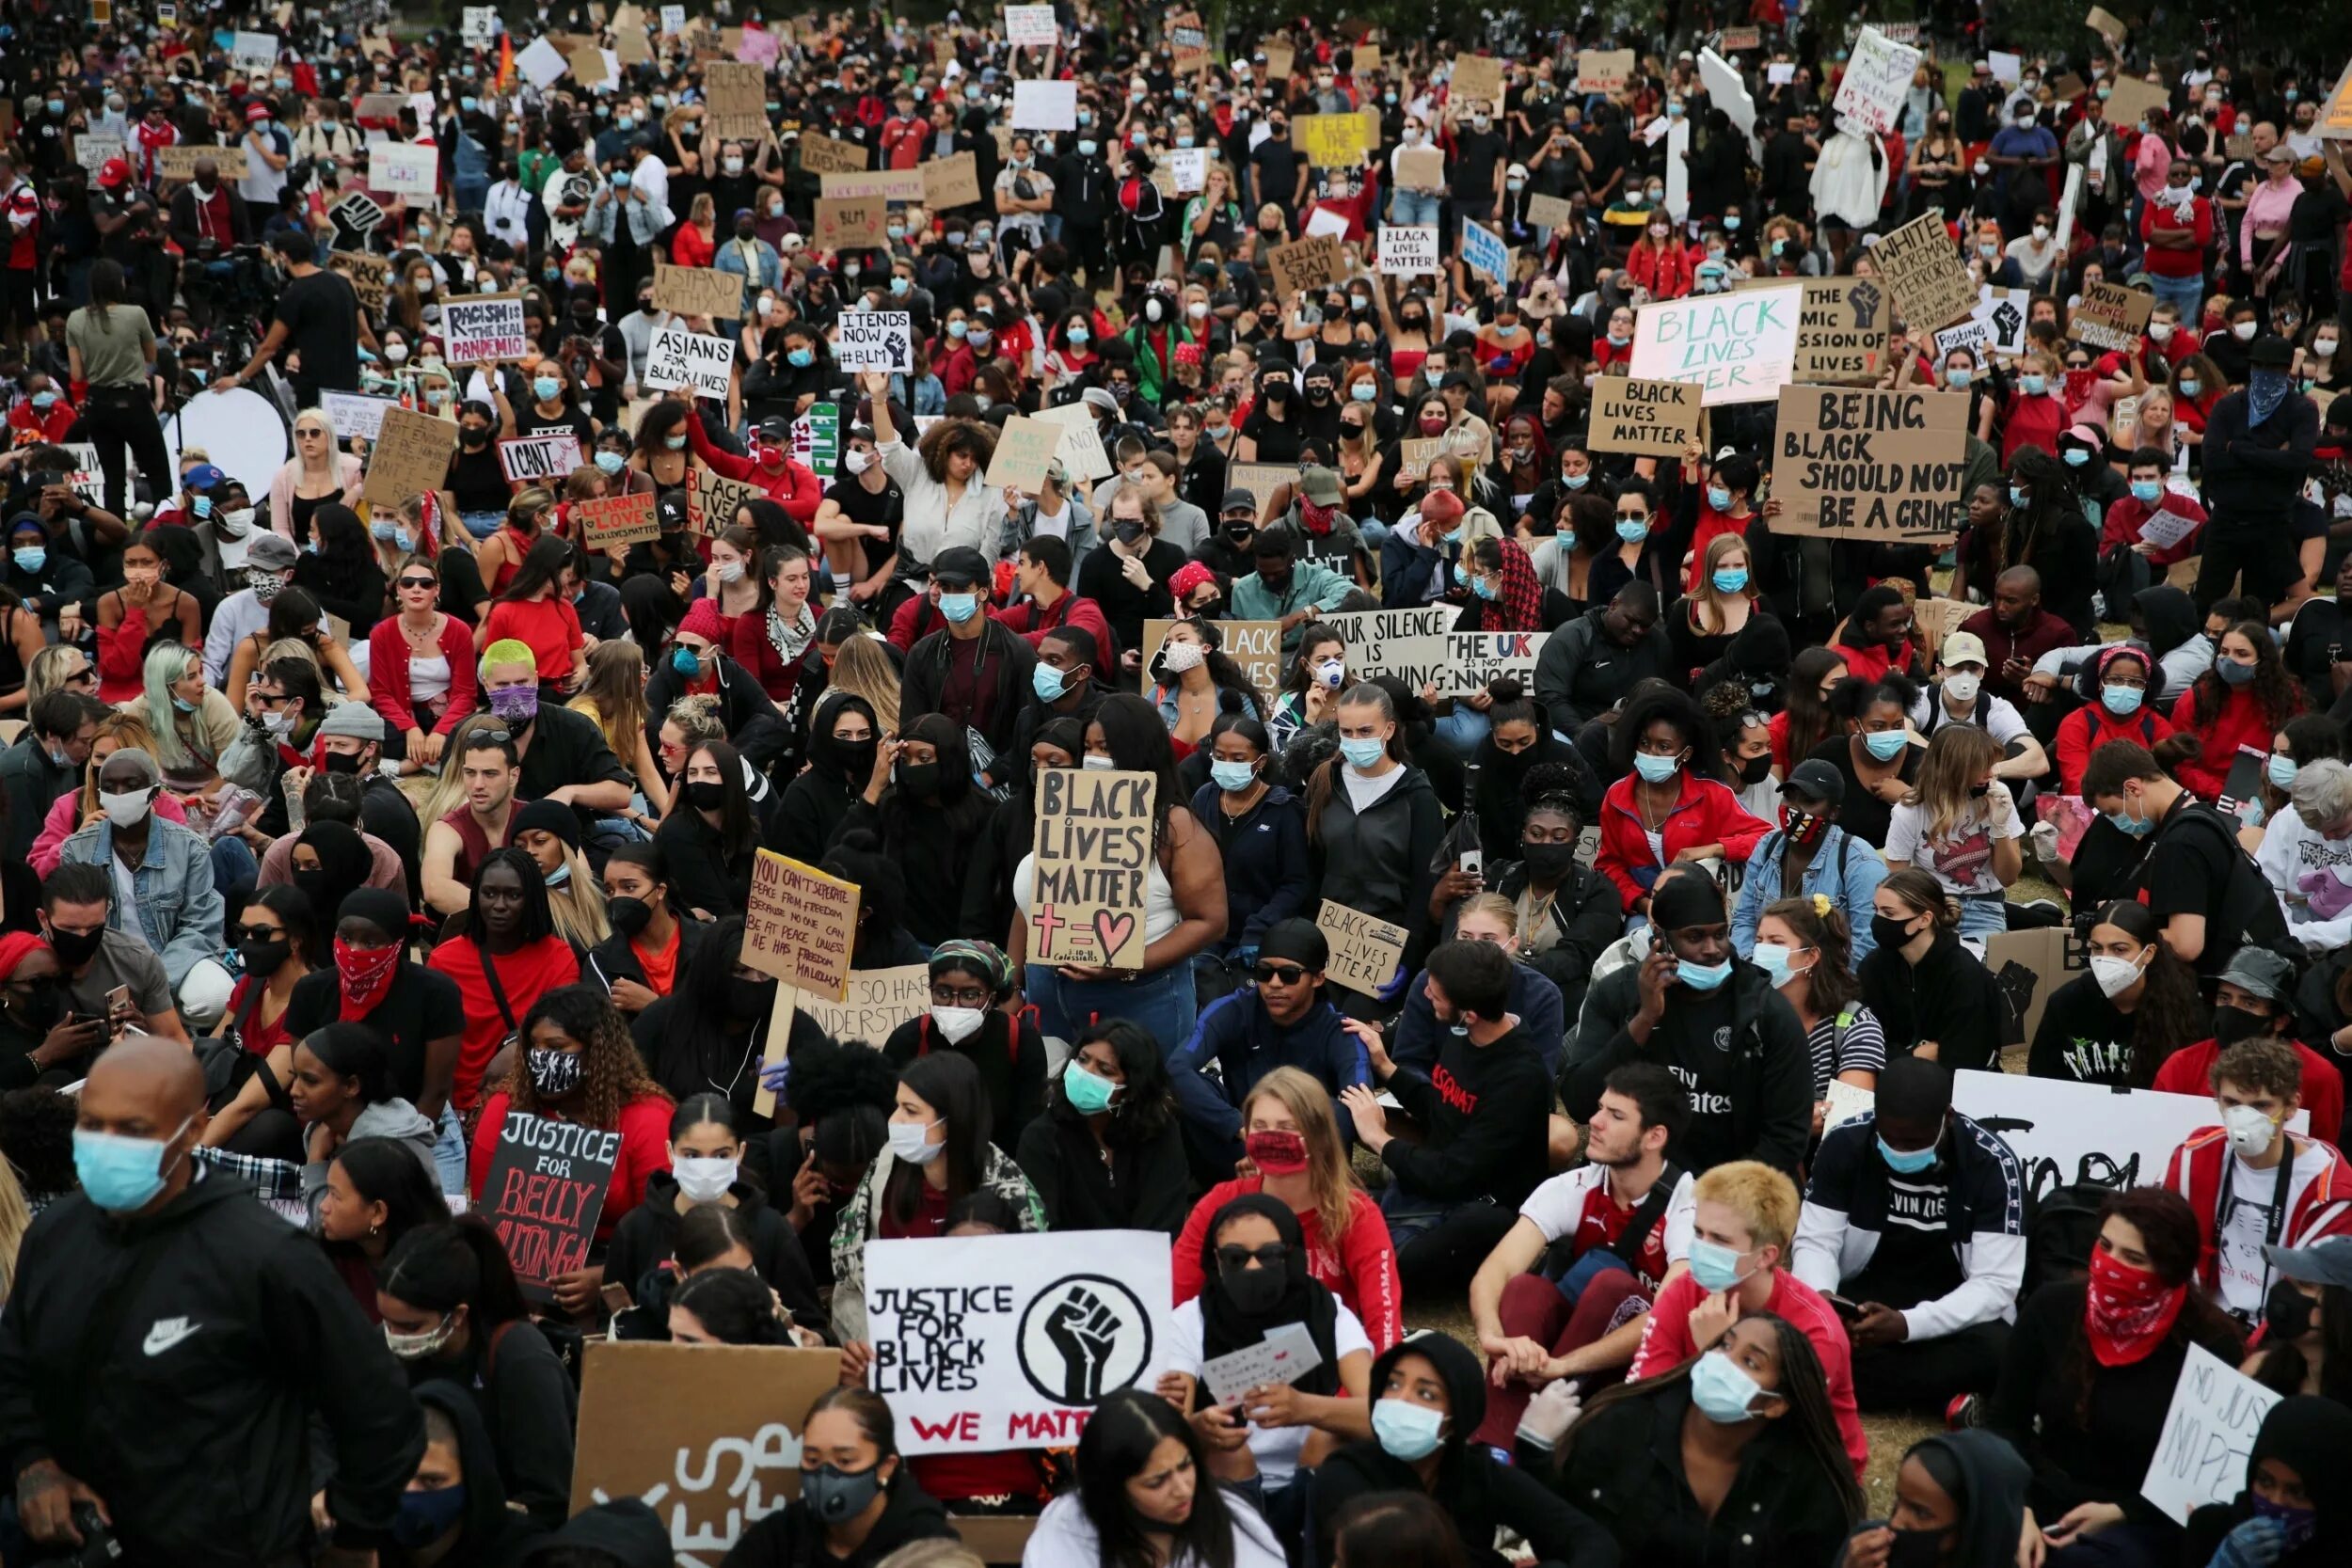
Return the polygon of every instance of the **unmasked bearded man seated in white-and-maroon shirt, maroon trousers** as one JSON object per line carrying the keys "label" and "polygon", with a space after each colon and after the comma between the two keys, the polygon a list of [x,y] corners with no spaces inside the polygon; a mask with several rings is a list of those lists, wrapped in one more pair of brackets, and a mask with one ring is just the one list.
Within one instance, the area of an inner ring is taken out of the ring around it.
{"label": "unmasked bearded man seated in white-and-maroon shirt, maroon trousers", "polygon": [[1477,1441],[1510,1443],[1543,1385],[1632,1361],[1651,1298],[1691,1246],[1691,1173],[1665,1157],[1689,1121],[1672,1072],[1625,1063],[1585,1126],[1585,1164],[1526,1194],[1486,1253],[1470,1321],[1503,1382],[1486,1392]]}

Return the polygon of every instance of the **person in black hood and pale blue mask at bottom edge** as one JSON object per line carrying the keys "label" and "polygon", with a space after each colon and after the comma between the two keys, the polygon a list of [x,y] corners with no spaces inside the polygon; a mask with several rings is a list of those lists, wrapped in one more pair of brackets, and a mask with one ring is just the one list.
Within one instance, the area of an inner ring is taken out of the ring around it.
{"label": "person in black hood and pale blue mask at bottom edge", "polygon": [[1371,1396],[1374,1439],[1315,1472],[1315,1561],[1334,1561],[1331,1528],[1355,1497],[1421,1493],[1454,1521],[1470,1568],[1503,1568],[1496,1526],[1526,1540],[1538,1563],[1616,1568],[1618,1544],[1592,1516],[1470,1441],[1486,1420],[1486,1373],[1461,1340],[1418,1333],[1392,1345],[1371,1363]]}

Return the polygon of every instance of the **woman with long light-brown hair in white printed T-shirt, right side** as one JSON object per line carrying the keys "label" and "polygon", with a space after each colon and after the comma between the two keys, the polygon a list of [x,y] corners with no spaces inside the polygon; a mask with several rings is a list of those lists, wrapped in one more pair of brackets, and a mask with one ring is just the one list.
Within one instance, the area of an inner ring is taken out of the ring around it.
{"label": "woman with long light-brown hair in white printed T-shirt, right side", "polygon": [[1926,743],[1910,795],[1886,827],[1886,870],[1922,865],[1959,900],[1959,933],[2009,929],[2006,889],[2025,870],[2025,820],[1992,776],[2002,745],[1973,724],[1945,724]]}

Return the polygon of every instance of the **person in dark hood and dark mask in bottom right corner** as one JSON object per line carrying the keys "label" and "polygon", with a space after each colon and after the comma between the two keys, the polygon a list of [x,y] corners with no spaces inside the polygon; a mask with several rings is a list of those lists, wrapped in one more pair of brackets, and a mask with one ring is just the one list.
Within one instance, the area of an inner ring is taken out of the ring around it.
{"label": "person in dark hood and dark mask in bottom right corner", "polygon": [[2352,1453],[2352,1410],[2296,1394],[2263,1418],[2246,1490],[2190,1514],[2183,1563],[2321,1568],[2352,1561],[2352,1495],[2333,1486]]}

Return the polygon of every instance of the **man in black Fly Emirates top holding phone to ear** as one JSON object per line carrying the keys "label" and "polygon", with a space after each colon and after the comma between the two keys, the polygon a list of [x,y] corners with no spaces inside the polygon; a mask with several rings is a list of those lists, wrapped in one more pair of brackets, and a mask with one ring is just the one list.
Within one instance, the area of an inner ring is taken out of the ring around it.
{"label": "man in black Fly Emirates top holding phone to ear", "polygon": [[1696,867],[1668,867],[1649,898],[1653,940],[1642,964],[1592,983],[1569,1041],[1562,1105],[1585,1121],[1609,1074],[1653,1060],[1691,1095],[1691,1128],[1668,1157],[1689,1171],[1762,1159],[1795,1173],[1813,1131],[1813,1058],[1795,1009],[1731,950],[1722,889]]}

